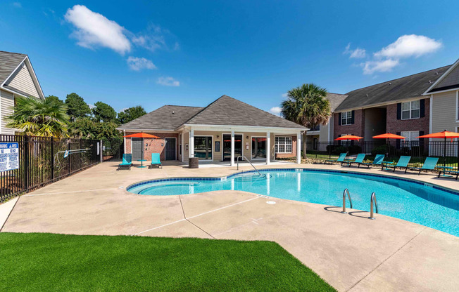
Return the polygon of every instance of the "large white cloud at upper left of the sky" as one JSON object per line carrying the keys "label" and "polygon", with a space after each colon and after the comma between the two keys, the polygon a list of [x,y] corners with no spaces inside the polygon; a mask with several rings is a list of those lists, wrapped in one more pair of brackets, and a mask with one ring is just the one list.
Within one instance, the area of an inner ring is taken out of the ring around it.
{"label": "large white cloud at upper left of the sky", "polygon": [[124,27],[100,13],[90,11],[86,6],[68,8],[64,18],[75,26],[71,36],[77,39],[79,46],[92,49],[103,46],[122,55],[131,50]]}

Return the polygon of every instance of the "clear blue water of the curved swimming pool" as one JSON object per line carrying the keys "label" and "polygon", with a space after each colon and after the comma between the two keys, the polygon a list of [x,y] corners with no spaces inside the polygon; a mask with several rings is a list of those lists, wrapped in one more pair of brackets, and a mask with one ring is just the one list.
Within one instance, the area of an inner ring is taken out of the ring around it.
{"label": "clear blue water of the curved swimming pool", "polygon": [[153,180],[127,188],[149,195],[196,194],[217,190],[241,190],[280,199],[342,206],[348,188],[353,208],[370,211],[370,195],[376,192],[379,213],[432,227],[459,236],[459,192],[432,185],[377,175],[312,171],[263,170],[227,178],[180,178]]}

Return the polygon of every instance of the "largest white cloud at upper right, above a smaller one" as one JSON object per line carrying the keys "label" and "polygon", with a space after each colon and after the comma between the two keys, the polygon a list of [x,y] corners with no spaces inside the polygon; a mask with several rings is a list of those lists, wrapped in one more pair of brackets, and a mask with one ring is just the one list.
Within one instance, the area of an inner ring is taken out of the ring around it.
{"label": "largest white cloud at upper right, above a smaller one", "polygon": [[441,48],[441,46],[441,41],[430,39],[427,36],[405,34],[374,55],[376,58],[420,57],[427,53],[434,53]]}

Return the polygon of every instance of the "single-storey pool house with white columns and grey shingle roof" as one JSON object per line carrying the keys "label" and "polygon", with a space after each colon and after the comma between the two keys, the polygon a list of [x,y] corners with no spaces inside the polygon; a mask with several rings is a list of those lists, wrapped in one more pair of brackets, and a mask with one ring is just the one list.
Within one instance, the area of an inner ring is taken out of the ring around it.
{"label": "single-storey pool house with white columns and grey shingle roof", "polygon": [[125,138],[125,153],[133,160],[200,161],[234,166],[237,157],[270,164],[296,157],[301,163],[301,135],[306,127],[222,95],[206,107],[164,105],[118,127],[123,135],[149,133],[158,138]]}

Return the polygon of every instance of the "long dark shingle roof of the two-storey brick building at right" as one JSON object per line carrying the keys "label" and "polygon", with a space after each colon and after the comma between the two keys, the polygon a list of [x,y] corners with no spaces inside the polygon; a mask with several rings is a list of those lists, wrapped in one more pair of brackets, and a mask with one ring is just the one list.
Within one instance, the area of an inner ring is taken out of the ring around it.
{"label": "long dark shingle roof of the two-storey brick building at right", "polygon": [[449,67],[451,65],[356,89],[346,93],[348,97],[336,111],[420,97]]}

